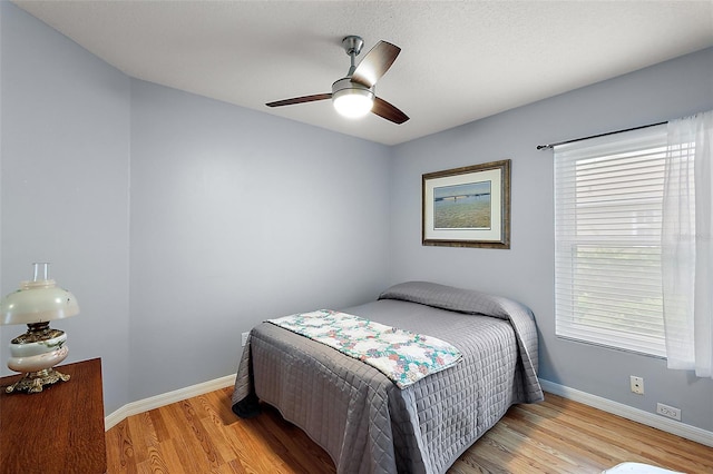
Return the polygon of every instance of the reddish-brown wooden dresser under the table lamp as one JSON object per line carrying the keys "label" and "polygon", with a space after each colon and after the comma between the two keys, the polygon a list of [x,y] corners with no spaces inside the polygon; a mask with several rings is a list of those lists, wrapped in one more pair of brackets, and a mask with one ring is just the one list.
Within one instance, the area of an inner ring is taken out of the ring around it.
{"label": "reddish-brown wooden dresser under the table lamp", "polygon": [[69,382],[6,394],[0,378],[0,473],[96,474],[107,470],[101,359],[56,367]]}

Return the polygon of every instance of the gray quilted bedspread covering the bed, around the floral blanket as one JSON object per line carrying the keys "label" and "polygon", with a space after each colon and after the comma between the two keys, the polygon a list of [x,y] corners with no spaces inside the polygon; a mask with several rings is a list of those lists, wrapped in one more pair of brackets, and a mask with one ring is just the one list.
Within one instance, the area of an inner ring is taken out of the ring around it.
{"label": "gray quilted bedspread covering the bed, around the floral blanket", "polygon": [[544,398],[534,316],[519,303],[409,282],[342,312],[447,340],[462,358],[399,388],[324,344],[268,322],[253,328],[233,412],[250,417],[258,401],[273,405],[329,453],[338,473],[443,473],[512,404]]}

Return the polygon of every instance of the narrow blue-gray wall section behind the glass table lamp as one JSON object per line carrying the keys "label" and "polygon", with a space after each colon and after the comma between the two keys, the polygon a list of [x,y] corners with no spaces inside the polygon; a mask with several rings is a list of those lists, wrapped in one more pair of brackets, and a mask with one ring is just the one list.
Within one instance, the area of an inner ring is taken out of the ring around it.
{"label": "narrow blue-gray wall section behind the glass table lamp", "polygon": [[[128,396],[129,79],[13,4],[0,11],[0,290],[52,263],[80,307],[53,324],[68,362],[101,357],[116,408]],[[7,375],[8,343],[27,328],[0,327]]]}

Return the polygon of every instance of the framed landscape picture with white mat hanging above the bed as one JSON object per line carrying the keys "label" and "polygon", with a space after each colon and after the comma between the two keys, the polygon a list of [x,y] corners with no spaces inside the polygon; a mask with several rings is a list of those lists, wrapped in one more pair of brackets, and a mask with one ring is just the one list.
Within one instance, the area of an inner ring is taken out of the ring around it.
{"label": "framed landscape picture with white mat hanging above the bed", "polygon": [[423,245],[510,248],[510,160],[423,175]]}

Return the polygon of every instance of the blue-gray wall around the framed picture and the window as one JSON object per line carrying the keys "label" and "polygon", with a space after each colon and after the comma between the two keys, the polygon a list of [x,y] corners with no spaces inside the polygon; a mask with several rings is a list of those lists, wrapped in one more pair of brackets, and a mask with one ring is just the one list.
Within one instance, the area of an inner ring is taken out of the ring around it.
{"label": "blue-gray wall around the framed picture and the window", "polygon": [[[665,361],[555,337],[553,152],[536,146],[684,117],[713,108],[713,49],[447,130],[393,149],[391,282],[434,279],[527,304],[540,332],[540,376],[713,431],[713,381]],[[484,91],[487,93],[487,91]],[[423,247],[421,175],[512,160],[511,249]],[[644,377],[644,396],[629,391]]]}

